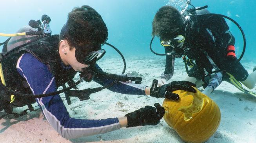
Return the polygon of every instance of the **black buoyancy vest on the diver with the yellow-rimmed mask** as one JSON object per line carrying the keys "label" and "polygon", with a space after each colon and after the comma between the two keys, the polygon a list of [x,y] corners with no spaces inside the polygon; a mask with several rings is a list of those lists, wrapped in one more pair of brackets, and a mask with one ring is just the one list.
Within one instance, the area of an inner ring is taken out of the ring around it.
{"label": "black buoyancy vest on the diver with the yellow-rimmed mask", "polygon": [[[229,44],[234,45],[234,36],[228,31],[229,26],[225,19],[219,15],[209,15],[207,9],[196,7],[190,14],[183,13],[182,18],[185,26],[185,37],[187,40],[184,46],[196,50],[194,60],[199,68],[206,68],[211,72],[211,63],[205,56],[205,52],[219,65],[226,60],[226,48]],[[218,56],[214,55],[218,53]],[[189,57],[189,59],[193,59]],[[188,71],[187,71],[188,72]],[[191,75],[192,76],[192,75]]]}

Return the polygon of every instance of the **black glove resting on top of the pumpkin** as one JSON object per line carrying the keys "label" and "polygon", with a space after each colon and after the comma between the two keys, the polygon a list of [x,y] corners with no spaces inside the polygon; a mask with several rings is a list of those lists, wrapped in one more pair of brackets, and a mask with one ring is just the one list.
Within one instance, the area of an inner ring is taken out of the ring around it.
{"label": "black glove resting on top of the pumpkin", "polygon": [[196,89],[191,86],[196,87],[196,84],[193,84],[189,81],[172,81],[169,84],[163,84],[161,87],[157,87],[158,80],[154,79],[152,87],[150,88],[150,96],[156,98],[167,98],[170,100],[179,100],[179,95],[172,93],[175,90],[185,90],[189,92],[196,93]]}

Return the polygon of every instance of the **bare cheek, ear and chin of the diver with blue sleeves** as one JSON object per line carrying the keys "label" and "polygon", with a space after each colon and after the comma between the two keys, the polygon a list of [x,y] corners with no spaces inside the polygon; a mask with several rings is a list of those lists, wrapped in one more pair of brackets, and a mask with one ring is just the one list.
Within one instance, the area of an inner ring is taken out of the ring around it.
{"label": "bare cheek, ear and chin of the diver with blue sleeves", "polygon": [[76,48],[71,48],[66,40],[60,41],[59,53],[65,65],[70,65],[75,71],[82,71],[82,68],[89,67],[88,64],[79,63],[75,56]]}

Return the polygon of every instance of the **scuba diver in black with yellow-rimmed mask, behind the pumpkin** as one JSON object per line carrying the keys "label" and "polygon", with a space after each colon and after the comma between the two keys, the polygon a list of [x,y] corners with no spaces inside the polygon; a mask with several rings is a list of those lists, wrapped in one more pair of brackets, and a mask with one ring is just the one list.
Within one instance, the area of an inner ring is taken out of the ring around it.
{"label": "scuba diver in black with yellow-rimmed mask, behind the pumpkin", "polygon": [[[174,59],[183,55],[188,75],[185,80],[195,83],[197,88],[203,86],[203,93],[206,95],[211,94],[225,80],[241,91],[256,96],[242,87],[243,84],[249,89],[254,88],[256,71],[248,74],[240,63],[241,57],[236,57],[235,38],[223,18],[227,16],[210,14],[205,9],[208,6],[192,6],[191,9],[188,6],[191,6],[190,1],[181,12],[172,6],[163,6],[154,16],[152,35],[153,38],[160,38],[160,43],[165,48],[165,54],[162,55],[166,55],[165,71],[160,77],[171,79],[174,74]],[[151,51],[153,52],[152,48]]]}

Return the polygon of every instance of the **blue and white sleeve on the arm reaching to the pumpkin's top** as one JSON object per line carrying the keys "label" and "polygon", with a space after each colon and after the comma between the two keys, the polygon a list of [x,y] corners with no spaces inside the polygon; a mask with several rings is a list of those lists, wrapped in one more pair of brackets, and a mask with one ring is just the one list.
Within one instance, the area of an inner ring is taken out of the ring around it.
{"label": "blue and white sleeve on the arm reaching to the pumpkin's top", "polygon": [[[96,64],[96,68],[102,70],[98,64]],[[113,79],[102,79],[98,77],[97,75],[93,78],[93,81],[97,82],[98,84],[105,86],[107,84],[112,83],[114,80]],[[129,83],[129,82],[122,82],[119,81],[110,88],[107,88],[113,92],[118,92],[122,94],[129,94],[129,95],[146,95],[145,94],[145,88],[147,86],[144,86],[142,84],[134,84],[134,83]]]}

